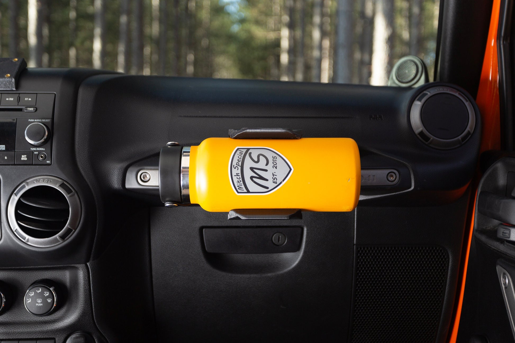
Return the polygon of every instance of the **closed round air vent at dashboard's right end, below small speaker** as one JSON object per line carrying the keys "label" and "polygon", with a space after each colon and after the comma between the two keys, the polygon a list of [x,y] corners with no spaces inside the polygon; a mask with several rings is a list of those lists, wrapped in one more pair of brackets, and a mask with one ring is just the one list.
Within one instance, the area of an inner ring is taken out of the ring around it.
{"label": "closed round air vent at dashboard's right end, below small speaker", "polygon": [[451,87],[432,87],[419,94],[410,112],[411,127],[425,144],[452,149],[474,132],[476,116],[469,99]]}

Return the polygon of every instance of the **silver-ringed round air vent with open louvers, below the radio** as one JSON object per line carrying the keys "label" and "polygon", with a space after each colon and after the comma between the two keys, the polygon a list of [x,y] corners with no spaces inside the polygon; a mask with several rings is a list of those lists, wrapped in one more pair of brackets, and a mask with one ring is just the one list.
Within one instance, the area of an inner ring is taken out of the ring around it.
{"label": "silver-ringed round air vent with open louvers, below the radio", "polygon": [[80,200],[70,184],[54,176],[22,183],[11,196],[7,216],[11,229],[23,242],[52,247],[75,232],[81,214]]}

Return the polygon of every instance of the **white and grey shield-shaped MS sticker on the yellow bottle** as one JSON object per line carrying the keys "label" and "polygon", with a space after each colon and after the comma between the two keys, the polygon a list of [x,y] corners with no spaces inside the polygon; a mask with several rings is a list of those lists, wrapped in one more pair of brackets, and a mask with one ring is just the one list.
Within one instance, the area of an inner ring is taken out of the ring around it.
{"label": "white and grey shield-shaped MS sticker on the yellow bottle", "polygon": [[293,173],[291,163],[267,147],[236,147],[229,159],[229,179],[238,195],[270,194]]}

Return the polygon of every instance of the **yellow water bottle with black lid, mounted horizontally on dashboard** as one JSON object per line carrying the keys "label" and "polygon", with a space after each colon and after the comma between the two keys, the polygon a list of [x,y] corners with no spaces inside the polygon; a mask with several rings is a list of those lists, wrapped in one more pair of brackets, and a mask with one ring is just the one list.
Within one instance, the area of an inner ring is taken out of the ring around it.
{"label": "yellow water bottle with black lid, mounted horizontally on dashboard", "polygon": [[159,162],[161,200],[234,209],[352,211],[361,165],[350,138],[208,138],[167,146]]}

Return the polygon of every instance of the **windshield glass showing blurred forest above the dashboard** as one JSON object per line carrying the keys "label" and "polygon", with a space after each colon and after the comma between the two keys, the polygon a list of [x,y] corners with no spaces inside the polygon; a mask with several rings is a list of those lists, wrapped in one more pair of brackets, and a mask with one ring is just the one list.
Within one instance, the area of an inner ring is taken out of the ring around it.
{"label": "windshield glass showing blurred forest above the dashboard", "polygon": [[0,55],[129,74],[384,85],[434,73],[439,0],[2,0]]}

